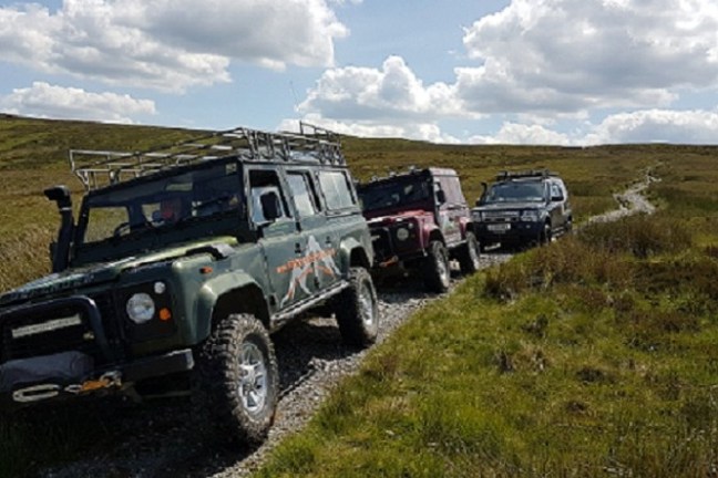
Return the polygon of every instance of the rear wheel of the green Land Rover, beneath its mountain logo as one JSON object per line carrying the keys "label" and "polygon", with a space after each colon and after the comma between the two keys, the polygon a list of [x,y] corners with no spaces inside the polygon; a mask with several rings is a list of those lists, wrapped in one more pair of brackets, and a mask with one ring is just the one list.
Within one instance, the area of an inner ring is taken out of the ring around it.
{"label": "rear wheel of the green Land Rover, beneath its mountain logo", "polygon": [[363,268],[351,268],[349,288],[335,301],[341,339],[347,345],[368,346],[379,332],[379,306],[371,276]]}

